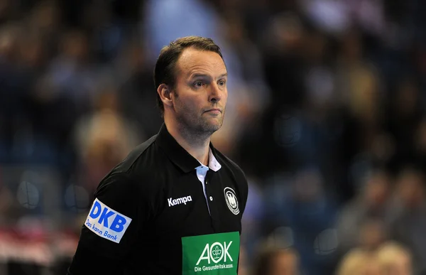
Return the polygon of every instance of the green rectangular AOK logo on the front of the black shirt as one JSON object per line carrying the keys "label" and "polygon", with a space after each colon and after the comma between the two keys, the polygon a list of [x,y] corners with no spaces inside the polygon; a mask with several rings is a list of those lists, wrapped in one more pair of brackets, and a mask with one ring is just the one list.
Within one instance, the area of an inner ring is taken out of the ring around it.
{"label": "green rectangular AOK logo on the front of the black shirt", "polygon": [[182,238],[182,274],[236,274],[239,232]]}

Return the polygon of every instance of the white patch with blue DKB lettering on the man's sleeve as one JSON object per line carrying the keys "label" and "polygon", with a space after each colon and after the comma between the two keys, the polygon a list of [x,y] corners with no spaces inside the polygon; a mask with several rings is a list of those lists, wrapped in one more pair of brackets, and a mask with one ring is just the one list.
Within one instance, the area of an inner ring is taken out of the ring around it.
{"label": "white patch with blue DKB lettering on the man's sleeve", "polygon": [[130,217],[122,215],[96,199],[84,225],[99,237],[119,243],[130,222]]}

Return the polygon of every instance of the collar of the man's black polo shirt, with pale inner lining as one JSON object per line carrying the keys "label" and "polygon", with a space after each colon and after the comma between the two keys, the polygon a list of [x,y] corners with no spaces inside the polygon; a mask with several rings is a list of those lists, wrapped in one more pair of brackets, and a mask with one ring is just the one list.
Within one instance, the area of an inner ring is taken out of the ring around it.
{"label": "collar of the man's black polo shirt, with pale inner lining", "polygon": [[[175,163],[183,172],[189,173],[200,166],[200,161],[190,155],[185,149],[183,149],[178,141],[169,133],[167,127],[163,123],[158,132],[155,143],[160,146],[165,154],[170,158],[170,161]],[[209,144],[209,168],[213,171],[218,171],[222,166],[214,156],[214,147],[212,143]]]}

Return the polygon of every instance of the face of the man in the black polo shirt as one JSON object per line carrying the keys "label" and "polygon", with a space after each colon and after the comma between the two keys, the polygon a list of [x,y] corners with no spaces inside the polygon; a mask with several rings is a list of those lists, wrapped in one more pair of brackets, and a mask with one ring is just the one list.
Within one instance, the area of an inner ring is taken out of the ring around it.
{"label": "face of the man in the black polo shirt", "polygon": [[180,126],[196,134],[213,134],[224,121],[228,91],[222,58],[214,52],[187,48],[175,67],[173,114]]}

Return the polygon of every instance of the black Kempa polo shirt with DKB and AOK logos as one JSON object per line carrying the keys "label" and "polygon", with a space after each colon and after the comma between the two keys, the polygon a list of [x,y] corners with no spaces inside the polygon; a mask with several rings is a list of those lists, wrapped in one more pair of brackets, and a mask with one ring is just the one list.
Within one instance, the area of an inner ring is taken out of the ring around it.
{"label": "black Kempa polo shirt with DKB and AOK logos", "polygon": [[247,181],[210,153],[203,188],[164,124],[131,151],[99,184],[69,274],[236,274]]}

